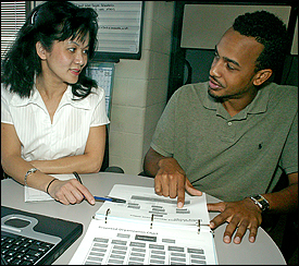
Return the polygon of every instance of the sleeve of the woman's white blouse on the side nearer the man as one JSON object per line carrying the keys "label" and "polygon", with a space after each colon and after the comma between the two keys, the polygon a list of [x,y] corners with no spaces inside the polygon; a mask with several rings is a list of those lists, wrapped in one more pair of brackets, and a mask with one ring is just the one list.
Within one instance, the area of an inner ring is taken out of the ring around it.
{"label": "sleeve of the woman's white blouse on the side nearer the man", "polygon": [[95,96],[95,110],[91,117],[90,126],[98,126],[110,123],[105,111],[105,95],[103,88],[99,87]]}

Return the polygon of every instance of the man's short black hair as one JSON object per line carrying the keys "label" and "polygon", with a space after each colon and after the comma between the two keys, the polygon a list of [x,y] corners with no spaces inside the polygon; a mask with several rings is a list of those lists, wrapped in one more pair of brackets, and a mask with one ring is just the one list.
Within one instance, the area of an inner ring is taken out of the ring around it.
{"label": "man's short black hair", "polygon": [[245,13],[235,20],[233,28],[241,35],[256,38],[264,46],[257,60],[256,71],[279,70],[288,52],[290,40],[286,25],[279,17],[264,10]]}

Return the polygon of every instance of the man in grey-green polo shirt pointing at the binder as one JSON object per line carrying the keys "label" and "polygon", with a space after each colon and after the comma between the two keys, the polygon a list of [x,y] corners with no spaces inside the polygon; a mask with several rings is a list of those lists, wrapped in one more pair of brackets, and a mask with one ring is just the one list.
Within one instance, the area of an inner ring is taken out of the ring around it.
{"label": "man in grey-green polo shirt pointing at the binder", "polygon": [[[287,32],[275,15],[238,16],[215,46],[210,81],[177,89],[160,121],[144,170],[177,206],[205,192],[222,200],[212,229],[224,242],[254,242],[262,214],[298,208],[298,88],[271,82],[283,64]],[[282,173],[289,185],[273,193]]]}

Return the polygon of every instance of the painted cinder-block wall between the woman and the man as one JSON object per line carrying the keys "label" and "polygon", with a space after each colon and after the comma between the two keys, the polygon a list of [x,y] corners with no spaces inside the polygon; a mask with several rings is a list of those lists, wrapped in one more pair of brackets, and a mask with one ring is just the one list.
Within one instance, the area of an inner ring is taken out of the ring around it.
{"label": "painted cinder-block wall between the woman and the man", "polygon": [[145,1],[140,60],[115,64],[110,124],[110,166],[138,174],[166,104],[173,1]]}

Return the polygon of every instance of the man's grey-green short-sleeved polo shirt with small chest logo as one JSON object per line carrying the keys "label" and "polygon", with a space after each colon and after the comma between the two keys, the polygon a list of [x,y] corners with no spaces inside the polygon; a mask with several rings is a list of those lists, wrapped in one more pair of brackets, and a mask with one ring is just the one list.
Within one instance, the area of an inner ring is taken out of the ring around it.
{"label": "man's grey-green short-sleeved polo shirt with small chest logo", "polygon": [[298,88],[271,83],[232,118],[208,83],[185,85],[167,102],[151,147],[222,201],[269,193],[282,169],[298,171]]}

